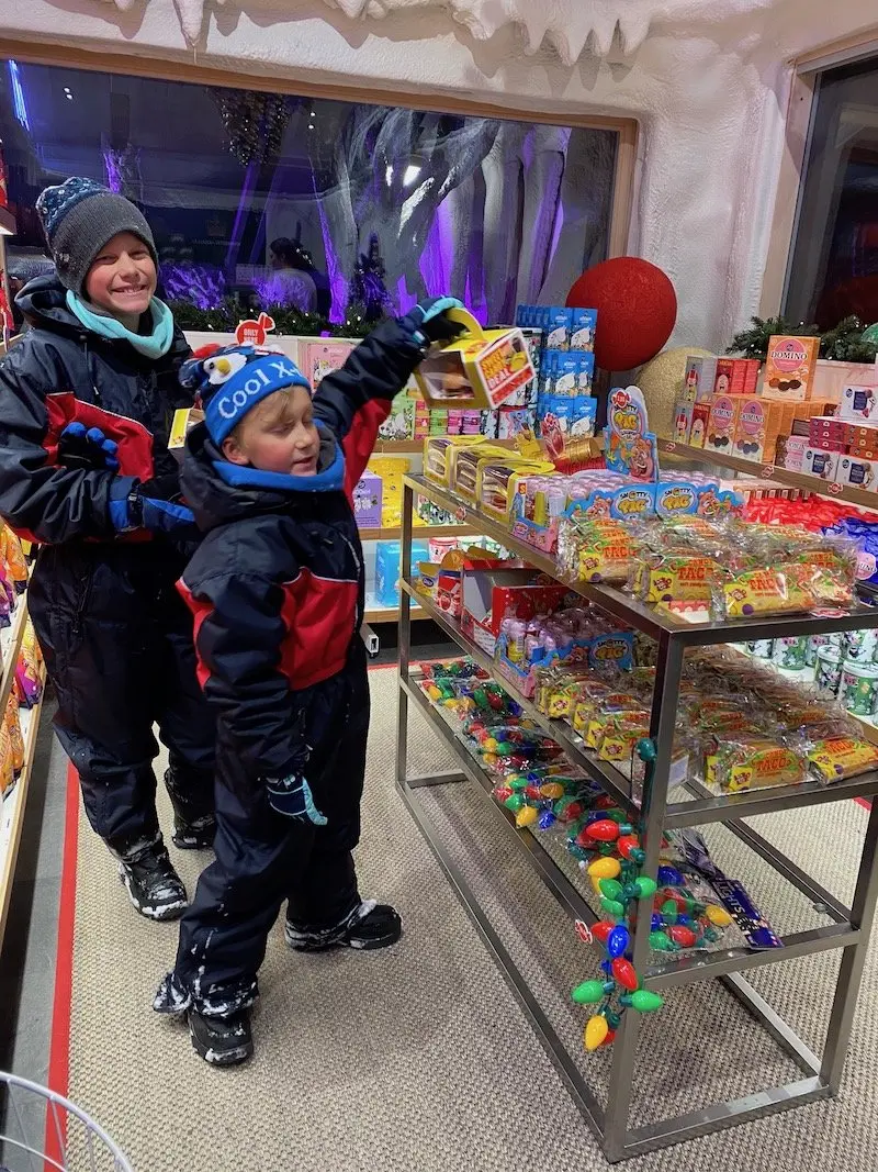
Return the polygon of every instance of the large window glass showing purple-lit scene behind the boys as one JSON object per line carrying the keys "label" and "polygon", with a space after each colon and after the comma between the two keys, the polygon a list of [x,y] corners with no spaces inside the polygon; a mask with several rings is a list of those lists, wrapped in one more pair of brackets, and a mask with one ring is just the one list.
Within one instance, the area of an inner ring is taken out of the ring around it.
{"label": "large window glass showing purple-lit scene behind the boys", "polygon": [[101,179],[143,207],[164,294],[191,327],[219,322],[228,299],[295,327],[301,313],[373,319],[440,292],[510,321],[520,301],[563,304],[608,254],[612,129],[15,61],[4,74],[13,250],[42,243],[43,186]]}

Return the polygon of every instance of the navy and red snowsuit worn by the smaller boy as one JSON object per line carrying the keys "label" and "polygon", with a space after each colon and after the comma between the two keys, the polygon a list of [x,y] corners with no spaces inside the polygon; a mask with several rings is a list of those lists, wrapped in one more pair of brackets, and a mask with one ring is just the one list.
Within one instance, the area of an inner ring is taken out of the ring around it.
{"label": "navy and red snowsuit worn by the smaller boy", "polygon": [[[180,588],[196,616],[199,676],[219,714],[217,857],[180,921],[172,992],[166,984],[163,995],[177,1008],[225,1016],[252,1003],[284,899],[289,918],[314,929],[337,925],[359,902],[351,852],[369,683],[351,492],[390,400],[421,356],[411,333],[384,322],[323,379],[314,397],[323,435],[317,478],[238,468],[219,457],[204,425],[190,434],[184,492],[207,533]],[[279,481],[288,486],[268,486]],[[327,826],[269,805],[266,778],[294,772],[308,778]]]}

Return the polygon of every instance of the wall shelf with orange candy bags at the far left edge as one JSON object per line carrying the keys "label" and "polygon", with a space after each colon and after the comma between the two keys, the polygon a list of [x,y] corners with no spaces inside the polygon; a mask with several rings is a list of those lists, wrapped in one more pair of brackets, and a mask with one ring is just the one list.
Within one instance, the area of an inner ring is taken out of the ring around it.
{"label": "wall shelf with orange candy bags at the far left edge", "polygon": [[0,946],[6,927],[46,670],[27,616],[28,567],[19,539],[0,530]]}

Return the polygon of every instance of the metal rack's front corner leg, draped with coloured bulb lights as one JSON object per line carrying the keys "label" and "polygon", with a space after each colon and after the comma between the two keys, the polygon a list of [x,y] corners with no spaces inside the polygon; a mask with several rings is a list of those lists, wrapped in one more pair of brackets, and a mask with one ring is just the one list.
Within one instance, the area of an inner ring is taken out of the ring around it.
{"label": "metal rack's front corner leg, draped with coloured bulb lights", "polygon": [[[656,759],[646,768],[643,802],[640,805],[640,845],[646,861],[640,873],[652,879],[658,873],[661,847],[661,826],[667,806],[668,777],[673,754],[677,703],[680,694],[684,649],[679,640],[664,635],[659,642],[656,684],[650,714],[650,737],[656,745]],[[650,912],[652,900],[644,900],[633,927],[632,962],[638,973],[645,973],[650,959]],[[612,1043],[612,1069],[606,1097],[604,1123],[604,1154],[611,1163],[625,1158],[627,1118],[637,1057],[637,1036],[640,1015],[632,1009],[622,1017],[622,1026]]]}

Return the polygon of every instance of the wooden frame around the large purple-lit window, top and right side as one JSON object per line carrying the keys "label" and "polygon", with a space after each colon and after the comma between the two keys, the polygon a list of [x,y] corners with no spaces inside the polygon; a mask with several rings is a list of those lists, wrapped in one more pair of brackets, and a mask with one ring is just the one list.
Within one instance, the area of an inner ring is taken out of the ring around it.
{"label": "wooden frame around the large purple-lit window, top and right side", "polygon": [[191,61],[173,61],[164,57],[135,56],[128,53],[91,52],[76,46],[37,45],[0,38],[0,55],[4,60],[14,57],[28,64],[88,69],[91,73],[128,74],[132,77],[151,77],[156,81],[179,81],[190,84],[220,86],[226,89],[255,89],[270,94],[293,94],[297,97],[323,97],[342,102],[361,102],[365,105],[396,105],[412,110],[443,114],[473,115],[483,118],[502,118],[507,122],[536,122],[547,125],[576,127],[589,130],[613,130],[618,135],[616,169],[610,207],[608,233],[608,257],[626,255],[631,247],[632,210],[639,125],[635,118],[606,117],[574,111],[523,110],[514,105],[495,105],[491,102],[457,97],[441,90],[425,90],[407,94],[398,90],[364,88],[362,86],[328,86],[277,75],[243,75],[232,70],[203,66]]}

